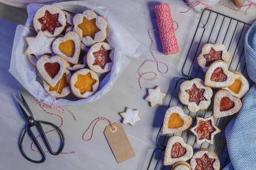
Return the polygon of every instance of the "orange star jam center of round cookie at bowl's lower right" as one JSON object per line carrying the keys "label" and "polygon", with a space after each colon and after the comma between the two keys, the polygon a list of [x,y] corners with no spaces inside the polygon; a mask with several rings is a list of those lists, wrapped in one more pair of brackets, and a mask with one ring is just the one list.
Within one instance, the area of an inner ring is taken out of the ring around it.
{"label": "orange star jam center of round cookie at bowl's lower right", "polygon": [[86,91],[92,92],[93,85],[96,83],[96,79],[93,79],[90,73],[85,75],[78,74],[77,81],[75,83],[75,88],[78,88],[80,94],[84,94]]}

